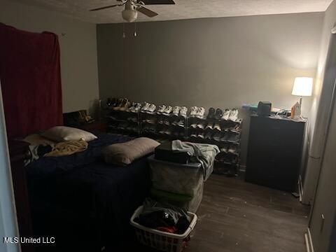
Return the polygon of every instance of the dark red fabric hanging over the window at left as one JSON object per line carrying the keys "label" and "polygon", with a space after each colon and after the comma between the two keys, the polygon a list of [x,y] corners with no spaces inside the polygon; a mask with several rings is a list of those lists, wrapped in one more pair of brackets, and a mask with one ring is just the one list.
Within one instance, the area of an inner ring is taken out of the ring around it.
{"label": "dark red fabric hanging over the window at left", "polygon": [[0,81],[8,138],[62,125],[62,87],[56,34],[0,23]]}

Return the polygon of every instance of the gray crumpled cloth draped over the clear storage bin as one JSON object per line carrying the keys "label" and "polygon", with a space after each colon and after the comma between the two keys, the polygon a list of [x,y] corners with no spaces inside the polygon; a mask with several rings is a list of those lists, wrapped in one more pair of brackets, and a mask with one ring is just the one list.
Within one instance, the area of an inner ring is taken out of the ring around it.
{"label": "gray crumpled cloth draped over the clear storage bin", "polygon": [[212,173],[215,157],[220,152],[218,146],[213,144],[194,144],[180,140],[172,141],[172,150],[185,151],[190,154],[190,160],[200,162],[203,168],[204,181],[207,181]]}

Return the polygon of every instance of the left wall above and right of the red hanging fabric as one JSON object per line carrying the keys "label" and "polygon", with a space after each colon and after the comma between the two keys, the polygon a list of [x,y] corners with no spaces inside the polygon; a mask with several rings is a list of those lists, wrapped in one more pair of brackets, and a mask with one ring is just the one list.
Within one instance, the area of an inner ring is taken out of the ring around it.
{"label": "left wall above and right of the red hanging fabric", "polygon": [[94,99],[98,99],[97,42],[94,24],[4,0],[0,0],[0,22],[26,31],[52,31],[59,36],[63,112],[88,109]]}

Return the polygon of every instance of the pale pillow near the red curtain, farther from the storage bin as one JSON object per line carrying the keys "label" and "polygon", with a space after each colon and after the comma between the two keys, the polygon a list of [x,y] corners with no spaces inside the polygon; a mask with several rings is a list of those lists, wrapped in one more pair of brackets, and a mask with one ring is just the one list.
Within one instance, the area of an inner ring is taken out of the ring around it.
{"label": "pale pillow near the red curtain, farther from the storage bin", "polygon": [[85,132],[85,130],[79,130],[73,127],[65,126],[55,126],[43,132],[42,137],[46,137],[53,141],[71,141],[71,140],[80,140],[91,141],[97,139],[94,134],[90,132]]}

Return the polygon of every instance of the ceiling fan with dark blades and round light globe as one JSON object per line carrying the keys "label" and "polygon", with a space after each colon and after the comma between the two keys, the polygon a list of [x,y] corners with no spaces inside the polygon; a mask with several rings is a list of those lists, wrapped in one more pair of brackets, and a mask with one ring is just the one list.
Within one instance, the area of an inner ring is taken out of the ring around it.
{"label": "ceiling fan with dark blades and round light globe", "polygon": [[134,22],[138,18],[138,11],[143,13],[149,18],[153,18],[158,13],[155,13],[152,10],[149,10],[148,8],[145,7],[145,5],[150,5],[150,4],[175,4],[173,0],[117,0],[121,1],[122,3],[118,4],[113,4],[111,6],[104,6],[100,8],[94,8],[90,11],[95,11],[95,10],[104,10],[106,8],[113,8],[116,6],[124,6],[125,9],[122,11],[122,16],[123,19],[126,20],[127,22]]}

